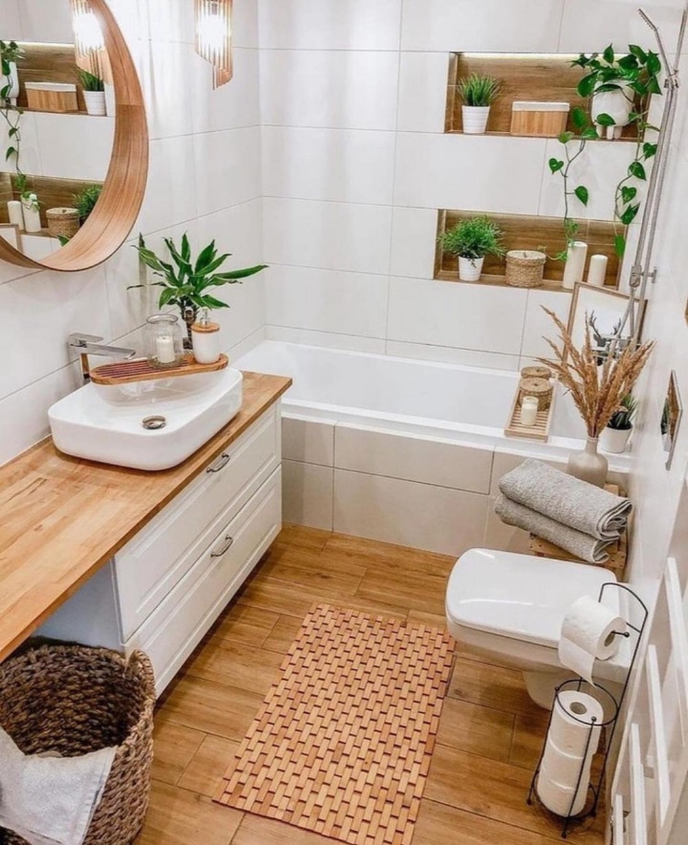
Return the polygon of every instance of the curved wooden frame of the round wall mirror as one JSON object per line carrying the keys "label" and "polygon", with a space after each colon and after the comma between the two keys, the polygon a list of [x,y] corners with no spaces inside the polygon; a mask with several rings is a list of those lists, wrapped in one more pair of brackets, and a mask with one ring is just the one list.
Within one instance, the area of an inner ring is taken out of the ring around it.
{"label": "curved wooden frame of the round wall mirror", "polygon": [[[41,262],[0,238],[0,259],[35,270],[89,270],[122,246],[139,215],[148,177],[148,126],[134,61],[106,0],[90,0],[112,64],[117,102],[112,157],[101,199],[69,243]],[[69,119],[68,117],[66,119]]]}

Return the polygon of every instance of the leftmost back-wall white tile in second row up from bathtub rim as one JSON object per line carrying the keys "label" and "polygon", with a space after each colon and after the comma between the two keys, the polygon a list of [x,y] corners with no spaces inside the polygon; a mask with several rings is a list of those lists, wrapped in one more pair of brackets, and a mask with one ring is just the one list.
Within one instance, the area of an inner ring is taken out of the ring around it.
{"label": "leftmost back-wall white tile in second row up from bathtub rim", "polygon": [[272,325],[384,337],[386,275],[273,266],[267,274],[267,319]]}

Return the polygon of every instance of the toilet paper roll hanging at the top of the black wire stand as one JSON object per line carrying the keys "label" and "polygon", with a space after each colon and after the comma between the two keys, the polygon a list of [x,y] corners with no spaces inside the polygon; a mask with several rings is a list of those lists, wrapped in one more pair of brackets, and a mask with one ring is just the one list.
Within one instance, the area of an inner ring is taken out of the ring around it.
{"label": "toilet paper roll hanging at the top of the black wire stand", "polygon": [[561,625],[559,659],[590,684],[596,660],[609,660],[619,649],[614,631],[625,632],[625,619],[589,596],[573,602]]}

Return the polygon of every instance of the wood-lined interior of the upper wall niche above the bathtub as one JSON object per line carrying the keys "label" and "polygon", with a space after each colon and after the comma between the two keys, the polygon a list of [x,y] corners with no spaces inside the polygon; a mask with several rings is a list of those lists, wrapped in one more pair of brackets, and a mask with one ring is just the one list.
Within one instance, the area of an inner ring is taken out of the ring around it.
{"label": "wood-lined interior of the upper wall niche above the bathtub", "polygon": [[[573,53],[450,53],[445,133],[463,134],[456,82],[469,74],[488,74],[502,82],[500,95],[489,113],[489,135],[524,137],[511,136],[511,103],[516,100],[567,102],[571,109],[581,106],[588,112],[588,102],[576,91],[585,73],[582,68],[571,67],[575,58],[577,54]],[[573,129],[571,117],[567,128]],[[623,130],[622,140],[636,138],[636,128]]]}

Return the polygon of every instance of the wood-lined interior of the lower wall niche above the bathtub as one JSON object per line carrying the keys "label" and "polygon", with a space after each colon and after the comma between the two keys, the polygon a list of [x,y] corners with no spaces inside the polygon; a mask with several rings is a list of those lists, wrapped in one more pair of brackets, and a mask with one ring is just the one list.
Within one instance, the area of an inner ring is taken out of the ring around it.
{"label": "wood-lined interior of the lower wall niche above the bathtub", "polygon": [[[483,215],[483,211],[456,211],[440,209],[437,215],[438,238],[461,220],[475,215]],[[510,249],[538,249],[546,247],[549,255],[559,254],[565,247],[565,237],[560,217],[543,217],[538,215],[493,214],[487,212],[490,220],[494,221],[504,232],[504,246]],[[619,284],[620,260],[614,252],[614,234],[619,232],[619,226],[611,221],[580,220],[578,237],[588,245],[588,261],[591,255],[606,255],[607,276],[604,286],[615,290]],[[489,255],[483,265],[483,275],[480,283],[494,286],[507,286],[505,282],[506,264],[504,258]],[[587,276],[587,266],[586,266]],[[537,290],[563,291],[561,280],[564,277],[564,264],[560,261],[547,259],[544,266],[544,282]],[[435,248],[434,279],[436,281],[459,281],[458,264],[455,255],[444,253],[438,240]],[[475,284],[475,282],[466,282]]]}

